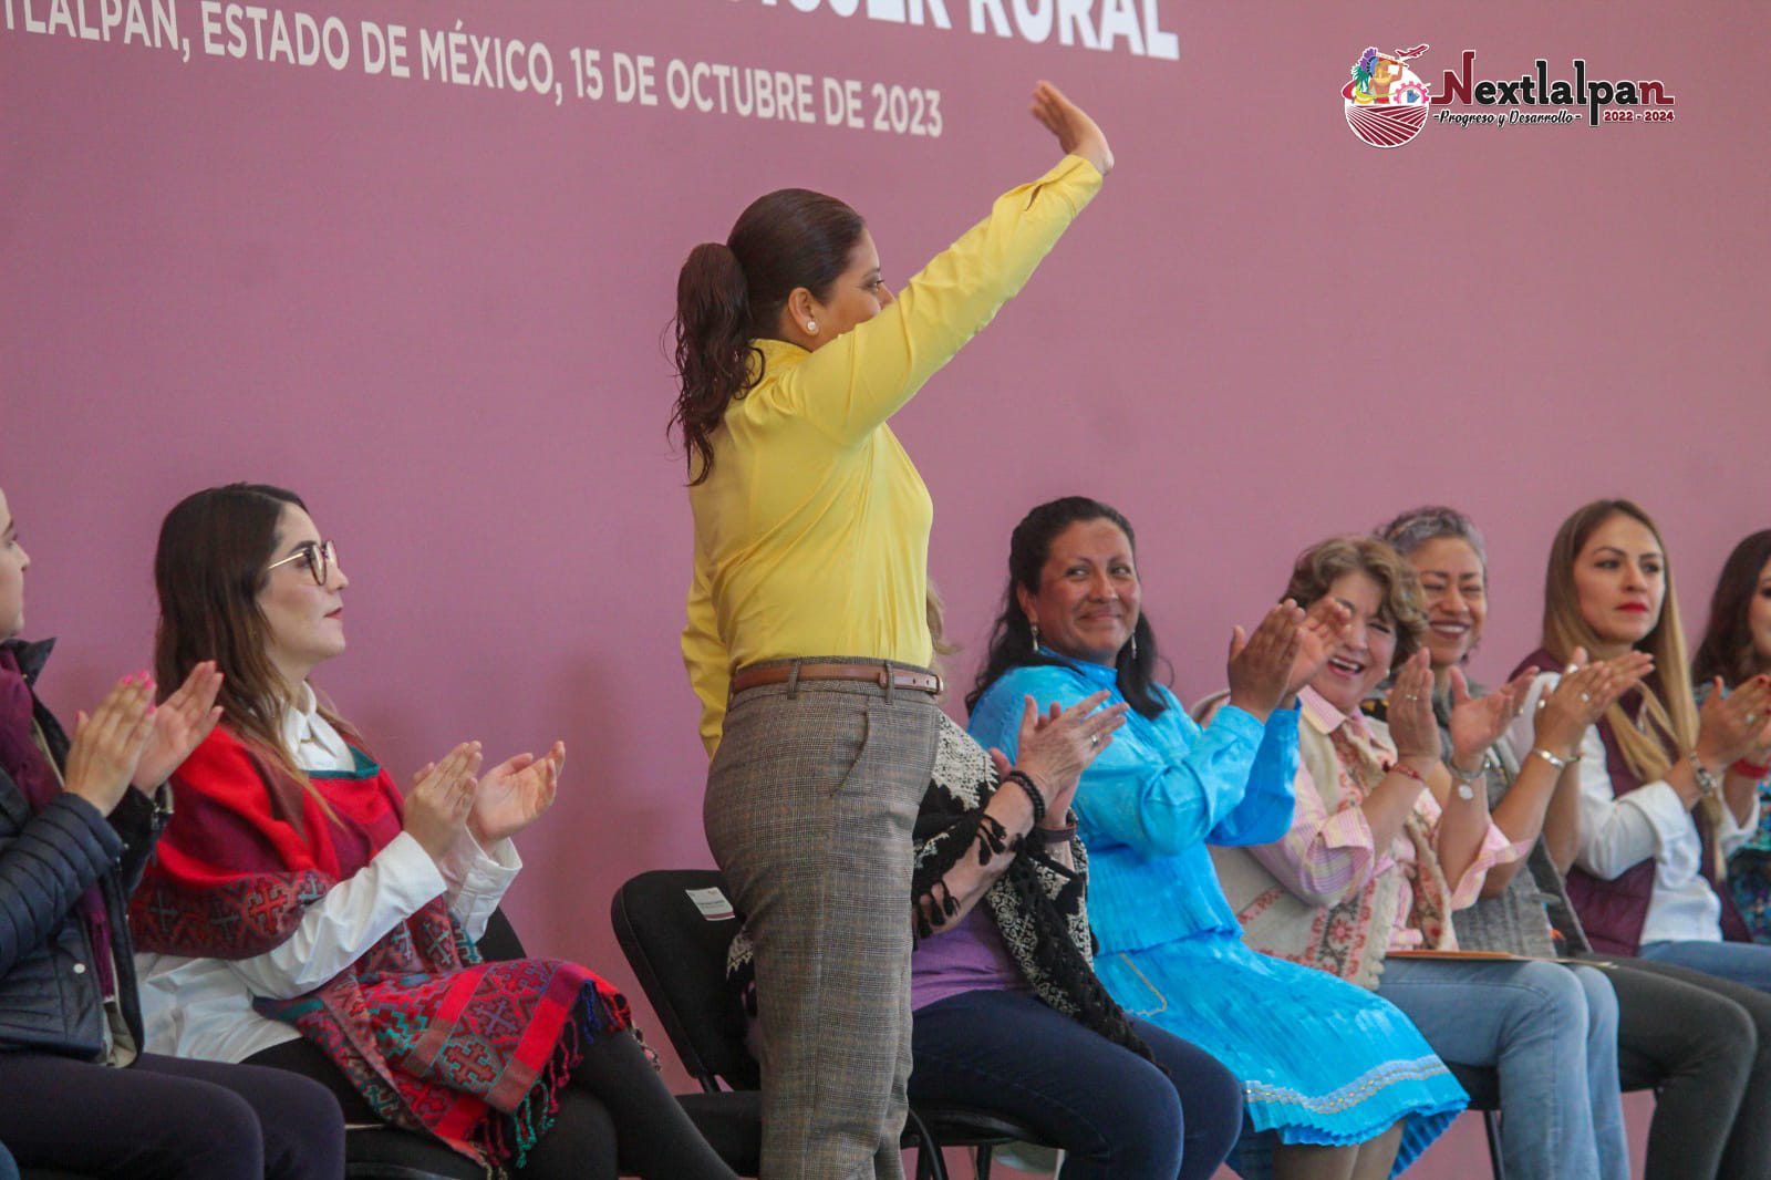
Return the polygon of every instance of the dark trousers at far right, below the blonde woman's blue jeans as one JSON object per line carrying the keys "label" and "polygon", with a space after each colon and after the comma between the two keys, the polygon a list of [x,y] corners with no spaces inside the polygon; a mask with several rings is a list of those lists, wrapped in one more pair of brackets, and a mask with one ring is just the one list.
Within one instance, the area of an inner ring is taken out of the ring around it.
{"label": "dark trousers at far right, below the blonde woman's blue jeans", "polygon": [[1613,962],[1619,1077],[1658,1091],[1645,1178],[1771,1176],[1771,996],[1670,962]]}

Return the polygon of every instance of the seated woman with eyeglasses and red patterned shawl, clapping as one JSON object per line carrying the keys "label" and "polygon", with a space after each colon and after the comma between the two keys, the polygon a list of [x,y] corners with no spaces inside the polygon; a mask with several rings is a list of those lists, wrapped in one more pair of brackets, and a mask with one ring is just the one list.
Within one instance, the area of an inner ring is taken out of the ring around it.
{"label": "seated woman with eyeglasses and red patterned shawl, clapping", "polygon": [[733,1176],[613,987],[475,948],[565,746],[482,772],[462,742],[402,796],[308,684],[345,648],[349,579],[294,493],[186,498],[154,583],[159,673],[207,659],[227,680],[131,909],[149,1044],[305,1074],[347,1120],[427,1130],[489,1171]]}

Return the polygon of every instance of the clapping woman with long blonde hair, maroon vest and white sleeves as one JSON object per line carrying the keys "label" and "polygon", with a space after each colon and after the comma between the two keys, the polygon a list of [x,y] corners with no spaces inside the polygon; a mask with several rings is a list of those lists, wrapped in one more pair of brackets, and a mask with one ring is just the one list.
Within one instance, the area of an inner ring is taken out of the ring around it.
{"label": "clapping woman with long blonde hair, maroon vest and white sleeves", "polygon": [[1557,532],[1544,579],[1543,648],[1520,668],[1566,668],[1631,648],[1654,657],[1640,686],[1605,710],[1576,749],[1544,749],[1530,710],[1557,684],[1539,673],[1509,744],[1523,764],[1578,762],[1578,822],[1551,813],[1544,840],[1594,950],[1640,955],[1771,992],[1771,946],[1746,928],[1721,865],[1759,822],[1757,781],[1737,769],[1771,746],[1771,679],[1723,698],[1691,693],[1672,567],[1659,530],[1628,500],[1599,500]]}

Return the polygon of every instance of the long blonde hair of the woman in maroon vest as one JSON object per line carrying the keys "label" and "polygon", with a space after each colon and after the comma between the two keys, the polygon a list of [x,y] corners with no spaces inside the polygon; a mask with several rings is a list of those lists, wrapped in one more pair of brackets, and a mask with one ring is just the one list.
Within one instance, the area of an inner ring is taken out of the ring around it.
{"label": "long blonde hair of the woman in maroon vest", "polygon": [[[1605,645],[1605,640],[1580,611],[1574,562],[1592,533],[1617,516],[1628,516],[1654,535],[1654,542],[1661,547],[1661,576],[1667,585],[1654,629],[1635,645],[1636,650],[1654,657],[1654,672],[1642,680],[1642,712],[1631,718],[1622,703],[1613,703],[1605,710],[1605,719],[1612,726],[1624,764],[1638,780],[1652,783],[1665,778],[1672,764],[1697,746],[1697,698],[1691,695],[1691,663],[1686,656],[1684,631],[1679,625],[1679,595],[1674,590],[1672,558],[1667,556],[1667,542],[1661,539],[1659,526],[1640,505],[1629,500],[1594,500],[1562,521],[1555,540],[1550,542],[1550,565],[1544,571],[1543,645],[1560,661],[1566,661],[1576,647],[1592,652]],[[1705,810],[1711,824],[1720,824],[1720,799],[1707,796],[1698,806]]]}

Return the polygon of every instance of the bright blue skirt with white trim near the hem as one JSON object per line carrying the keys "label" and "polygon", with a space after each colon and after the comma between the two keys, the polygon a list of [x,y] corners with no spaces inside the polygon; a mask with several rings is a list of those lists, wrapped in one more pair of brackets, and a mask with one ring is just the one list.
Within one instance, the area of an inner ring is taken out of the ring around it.
{"label": "bright blue skirt with white trim near the hem", "polygon": [[1468,1102],[1399,1008],[1229,934],[1107,953],[1094,971],[1128,1013],[1199,1045],[1241,1079],[1249,1125],[1229,1164],[1243,1176],[1272,1175],[1275,1137],[1342,1146],[1406,1120],[1394,1176]]}

